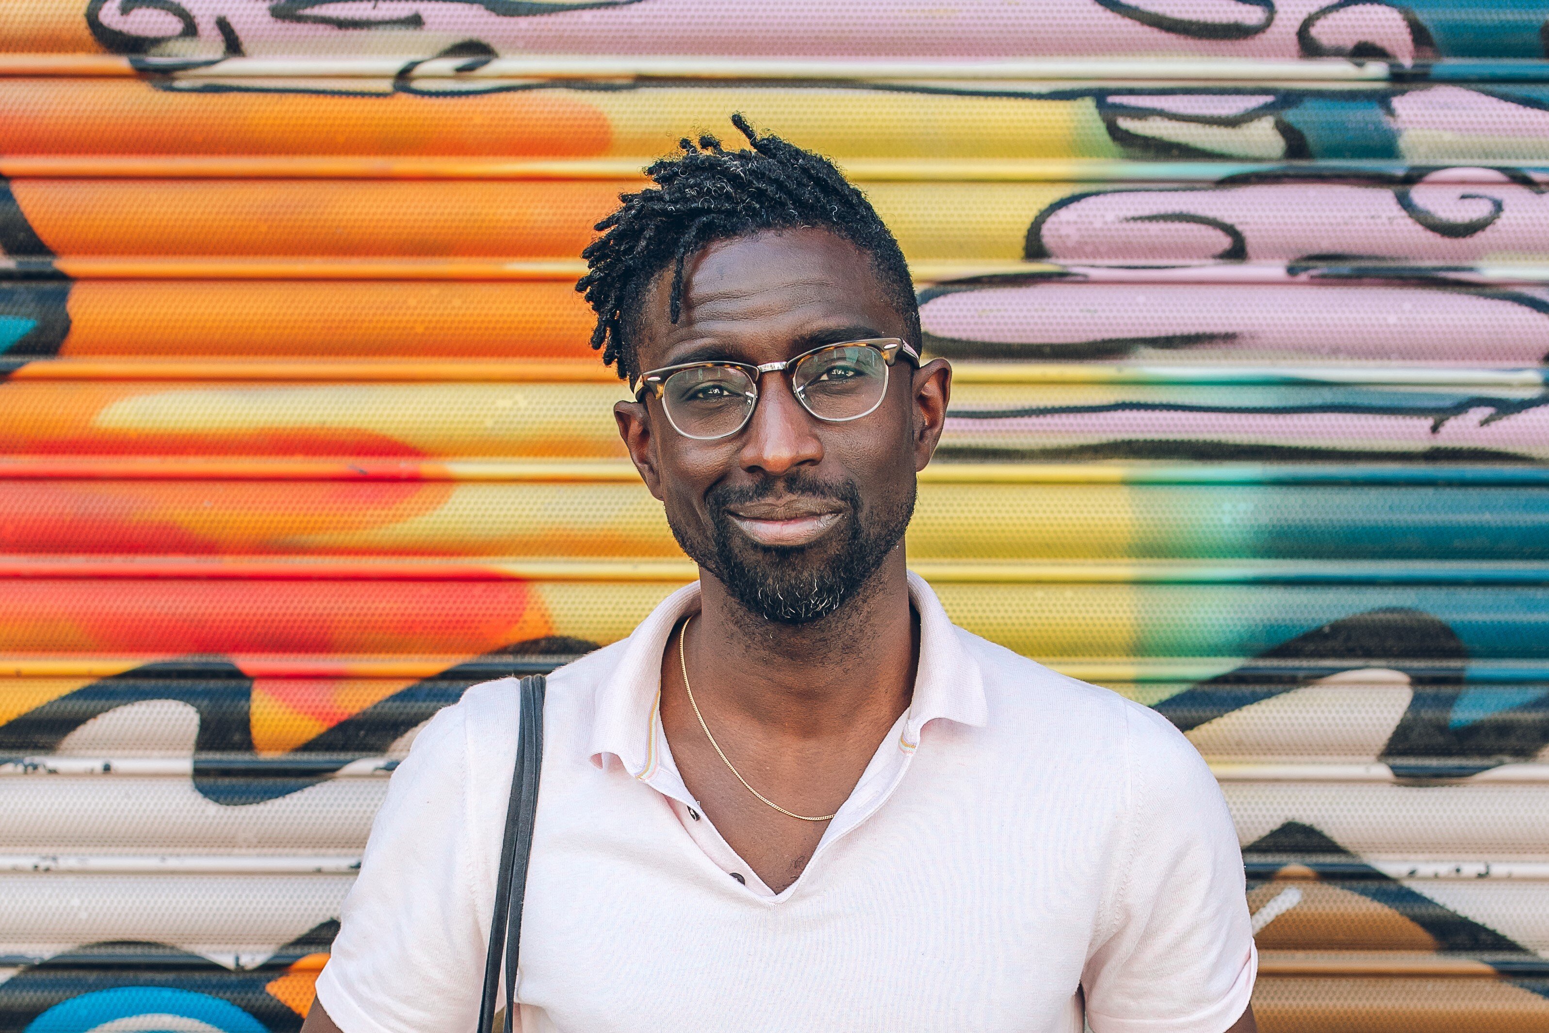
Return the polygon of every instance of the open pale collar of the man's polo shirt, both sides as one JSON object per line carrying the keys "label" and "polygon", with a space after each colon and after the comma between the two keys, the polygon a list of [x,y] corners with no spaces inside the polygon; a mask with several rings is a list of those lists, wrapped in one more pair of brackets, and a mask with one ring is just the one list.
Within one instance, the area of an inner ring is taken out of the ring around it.
{"label": "open pale collar of the man's polo shirt, both sides", "polygon": [[[909,599],[920,613],[920,664],[914,680],[903,734],[912,748],[920,729],[937,717],[981,728],[988,720],[984,672],[962,644],[940,599],[923,578],[909,571]],[[592,762],[603,767],[609,754],[635,777],[649,774],[657,698],[661,694],[661,652],[685,615],[699,610],[699,582],[669,595],[626,640],[624,650],[596,685],[592,725]]]}

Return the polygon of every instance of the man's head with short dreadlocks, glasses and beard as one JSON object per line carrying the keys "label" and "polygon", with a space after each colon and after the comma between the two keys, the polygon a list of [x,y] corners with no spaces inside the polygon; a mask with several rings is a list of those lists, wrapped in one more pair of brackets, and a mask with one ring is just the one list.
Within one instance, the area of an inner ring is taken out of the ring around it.
{"label": "man's head with short dreadlocks, glasses and beard", "polygon": [[[874,342],[793,370],[705,367],[696,404],[745,406],[756,393],[740,427],[736,415],[711,427],[674,415],[686,395],[677,383],[655,389],[661,376],[615,407],[683,550],[751,613],[801,624],[841,609],[895,556],[950,372],[919,367],[908,268],[860,190],[818,155],[733,121],[753,150],[702,138],[654,164],[660,189],[626,195],[598,225],[607,232],[587,248],[592,273],[578,290],[598,311],[593,345],[632,383],[665,367],[784,364]],[[861,404],[826,403],[826,389],[860,392]]]}

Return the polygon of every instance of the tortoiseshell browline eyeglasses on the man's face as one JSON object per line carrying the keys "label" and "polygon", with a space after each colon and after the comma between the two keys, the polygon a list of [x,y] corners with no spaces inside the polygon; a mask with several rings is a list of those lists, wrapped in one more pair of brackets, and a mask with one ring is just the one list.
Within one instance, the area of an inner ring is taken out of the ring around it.
{"label": "tortoiseshell browline eyeglasses on the man's face", "polygon": [[785,372],[802,407],[826,423],[875,412],[888,393],[888,367],[898,356],[915,365],[919,353],[898,338],[826,344],[784,362],[683,362],[640,375],[635,401],[652,392],[672,427],[686,438],[714,441],[748,426],[759,404],[759,378]]}

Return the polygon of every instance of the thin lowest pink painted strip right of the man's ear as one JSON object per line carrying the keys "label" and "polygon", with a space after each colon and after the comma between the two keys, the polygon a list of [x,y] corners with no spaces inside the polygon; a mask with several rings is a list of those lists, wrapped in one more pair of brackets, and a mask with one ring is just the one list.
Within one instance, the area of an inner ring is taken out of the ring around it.
{"label": "thin lowest pink painted strip right of the man's ear", "polygon": [[[1403,404],[1402,396],[1394,404]],[[1549,409],[1498,417],[1489,406],[1468,409],[1433,431],[1430,415],[1358,412],[1072,412],[1005,420],[946,420],[946,444],[1069,448],[1104,441],[1221,441],[1290,448],[1383,449],[1482,448],[1549,458]]]}

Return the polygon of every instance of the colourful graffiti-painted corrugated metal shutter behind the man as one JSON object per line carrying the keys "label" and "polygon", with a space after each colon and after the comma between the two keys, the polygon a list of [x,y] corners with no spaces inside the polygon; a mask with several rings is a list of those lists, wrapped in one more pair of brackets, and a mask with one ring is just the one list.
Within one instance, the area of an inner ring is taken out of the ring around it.
{"label": "colourful graffiti-painted corrugated metal shutter behind the man", "polygon": [[414,729],[692,576],[572,282],[734,110],[957,361],[915,568],[1216,765],[1261,1028],[1549,1028],[1546,19],[8,0],[0,1030],[297,1028]]}

